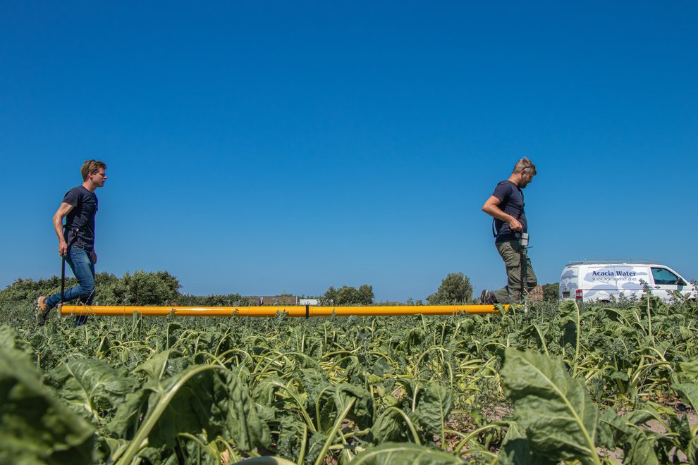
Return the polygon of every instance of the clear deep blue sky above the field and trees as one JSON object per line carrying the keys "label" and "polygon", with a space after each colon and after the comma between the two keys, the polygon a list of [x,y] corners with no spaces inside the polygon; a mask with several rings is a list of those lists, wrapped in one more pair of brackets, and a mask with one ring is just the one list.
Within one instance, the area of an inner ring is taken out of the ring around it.
{"label": "clear deep blue sky above the field and trees", "polygon": [[92,158],[97,271],[190,294],[501,287],[480,208],[521,156],[540,283],[698,278],[697,49],[694,1],[3,2],[0,286],[59,273]]}

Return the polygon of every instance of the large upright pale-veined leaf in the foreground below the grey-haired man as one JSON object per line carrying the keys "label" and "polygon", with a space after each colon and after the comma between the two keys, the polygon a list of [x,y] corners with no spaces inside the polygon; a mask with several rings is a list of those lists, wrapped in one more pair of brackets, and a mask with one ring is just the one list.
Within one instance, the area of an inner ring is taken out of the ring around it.
{"label": "large upright pale-veined leaf in the foreground below the grey-haired man", "polygon": [[508,347],[501,375],[532,449],[553,460],[598,463],[599,409],[559,359]]}

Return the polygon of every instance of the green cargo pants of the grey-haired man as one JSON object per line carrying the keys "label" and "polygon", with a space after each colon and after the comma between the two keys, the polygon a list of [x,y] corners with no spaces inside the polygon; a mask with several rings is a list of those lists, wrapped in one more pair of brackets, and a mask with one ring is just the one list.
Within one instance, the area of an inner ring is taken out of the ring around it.
{"label": "green cargo pants of the grey-haired man", "polygon": [[[506,266],[507,285],[494,292],[498,304],[520,304],[529,292],[538,284],[536,273],[531,266],[526,249],[521,247],[518,240],[495,242],[497,252],[502,256]],[[523,256],[522,256],[523,254]],[[525,292],[521,285],[521,264],[524,263],[523,280],[526,283]]]}

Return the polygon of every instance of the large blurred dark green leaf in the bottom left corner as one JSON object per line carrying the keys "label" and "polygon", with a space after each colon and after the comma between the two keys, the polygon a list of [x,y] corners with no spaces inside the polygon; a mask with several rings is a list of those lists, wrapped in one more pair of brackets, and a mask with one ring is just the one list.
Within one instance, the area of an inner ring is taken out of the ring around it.
{"label": "large blurred dark green leaf in the bottom left corner", "polygon": [[0,348],[0,463],[91,463],[94,428],[49,394],[25,354]]}

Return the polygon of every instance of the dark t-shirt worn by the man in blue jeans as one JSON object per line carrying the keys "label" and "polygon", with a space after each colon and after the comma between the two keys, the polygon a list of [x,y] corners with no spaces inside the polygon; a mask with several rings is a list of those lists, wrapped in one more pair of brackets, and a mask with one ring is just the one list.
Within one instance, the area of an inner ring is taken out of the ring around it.
{"label": "dark t-shirt worn by the man in blue jeans", "polygon": [[[94,248],[94,215],[97,214],[97,196],[79,185],[66,192],[63,202],[75,207],[66,215],[66,242],[71,247],[91,251]],[[75,237],[76,232],[77,237]],[[75,242],[71,242],[73,238]]]}

